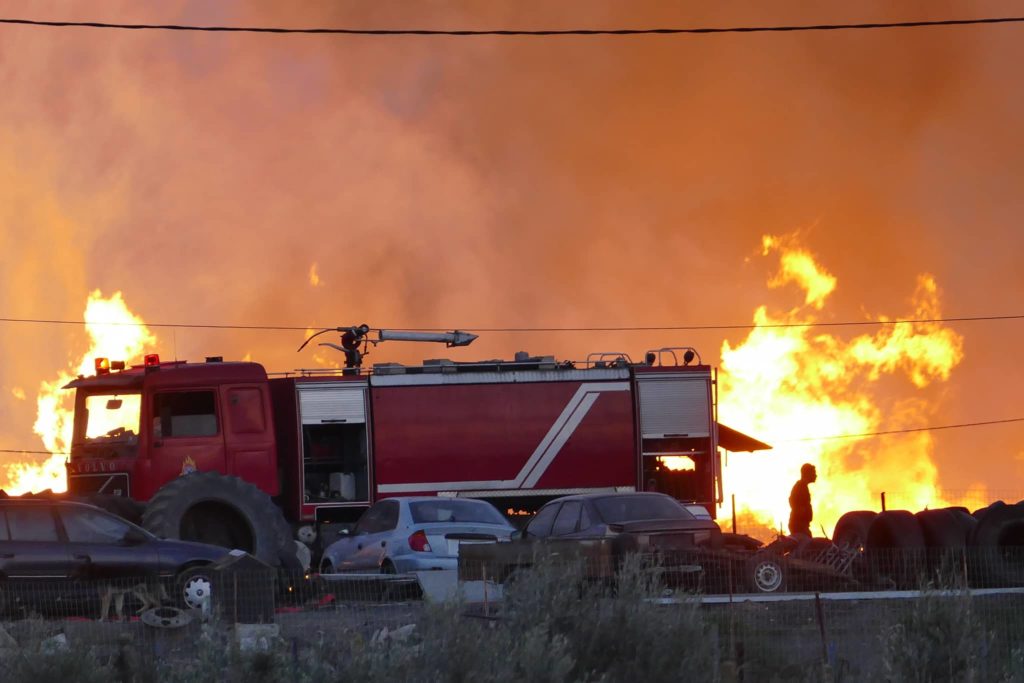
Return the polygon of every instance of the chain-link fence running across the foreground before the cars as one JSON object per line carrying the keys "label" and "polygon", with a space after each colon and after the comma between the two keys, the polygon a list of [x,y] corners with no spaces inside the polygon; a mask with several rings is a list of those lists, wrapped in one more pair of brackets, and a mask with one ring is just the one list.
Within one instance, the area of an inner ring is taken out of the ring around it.
{"label": "chain-link fence running across the foreground before the cars", "polygon": [[408,577],[8,581],[0,680],[1024,681],[1012,553],[485,552]]}

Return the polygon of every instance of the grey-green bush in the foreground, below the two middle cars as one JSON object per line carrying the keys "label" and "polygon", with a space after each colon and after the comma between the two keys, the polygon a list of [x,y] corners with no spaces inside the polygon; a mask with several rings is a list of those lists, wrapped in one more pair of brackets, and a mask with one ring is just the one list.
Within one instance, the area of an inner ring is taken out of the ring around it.
{"label": "grey-green bush in the foreground, below the two middle cars", "polygon": [[588,583],[578,564],[539,566],[509,585],[499,617],[432,606],[402,640],[332,643],[311,660],[318,680],[338,681],[714,680],[696,603],[652,603],[663,590],[639,562],[610,585]]}

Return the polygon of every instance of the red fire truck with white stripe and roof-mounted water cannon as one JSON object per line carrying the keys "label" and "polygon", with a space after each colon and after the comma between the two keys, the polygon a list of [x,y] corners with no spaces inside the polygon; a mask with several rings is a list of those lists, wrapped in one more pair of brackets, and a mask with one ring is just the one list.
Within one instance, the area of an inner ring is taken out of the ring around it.
{"label": "red fire truck with white stripe and roof-mounted water cannon", "polygon": [[[692,348],[585,361],[361,367],[368,343],[466,333],[335,329],[347,367],[268,376],[256,362],[96,360],[80,377],[69,490],[167,538],[275,561],[325,522],[391,496],[480,498],[531,511],[583,492],[656,489],[722,502],[719,447],[768,447],[717,423],[715,371]],[[307,340],[308,341],[308,340]],[[359,348],[364,351],[360,352]],[[118,497],[111,499],[110,497]]]}

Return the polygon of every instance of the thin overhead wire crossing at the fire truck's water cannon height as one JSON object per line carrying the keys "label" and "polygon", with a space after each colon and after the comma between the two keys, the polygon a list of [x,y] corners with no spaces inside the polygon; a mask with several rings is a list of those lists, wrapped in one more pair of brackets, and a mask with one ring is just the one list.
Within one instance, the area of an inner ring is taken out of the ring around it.
{"label": "thin overhead wire crossing at the fire truck's water cannon height", "polygon": [[[561,328],[481,328],[476,326],[459,327],[459,330],[472,330],[473,332],[488,333],[539,333],[539,332],[694,332],[694,331],[727,331],[727,330],[777,330],[787,328],[852,328],[865,326],[894,326],[894,325],[927,325],[938,323],[979,323],[979,322],[999,322],[999,321],[1021,321],[1024,313],[1010,315],[958,315],[952,317],[913,317],[897,318],[892,321],[839,321],[839,322],[810,322],[810,323],[770,323],[768,325],[754,325],[751,323],[740,325],[656,325],[656,326],[621,326],[621,327],[561,327]],[[146,327],[146,328],[180,328],[183,330],[255,330],[262,332],[306,332],[319,328],[318,325],[214,325],[203,323],[127,323],[127,322],[97,322],[97,321],[72,321],[58,318],[39,317],[0,317],[0,324],[27,324],[27,325],[99,325],[114,327]],[[410,332],[443,332],[445,328],[407,328],[402,326],[381,326],[385,329],[408,330]]]}

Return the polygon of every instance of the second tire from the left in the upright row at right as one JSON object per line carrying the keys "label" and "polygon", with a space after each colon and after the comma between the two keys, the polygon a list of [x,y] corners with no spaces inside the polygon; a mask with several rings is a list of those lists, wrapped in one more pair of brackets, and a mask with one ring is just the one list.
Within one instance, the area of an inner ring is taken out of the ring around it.
{"label": "second tire from the left in the upright row at right", "polygon": [[874,582],[918,588],[926,567],[925,533],[912,512],[880,512],[867,529],[864,552]]}

